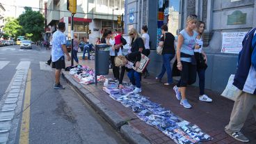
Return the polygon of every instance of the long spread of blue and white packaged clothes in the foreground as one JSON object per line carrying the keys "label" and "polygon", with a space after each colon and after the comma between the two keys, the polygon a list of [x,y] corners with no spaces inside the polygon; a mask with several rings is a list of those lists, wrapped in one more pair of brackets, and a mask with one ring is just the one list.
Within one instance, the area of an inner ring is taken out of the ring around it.
{"label": "long spread of blue and white packaged clothes in the foreground", "polygon": [[160,104],[151,102],[147,97],[136,93],[111,94],[115,101],[121,102],[127,108],[132,109],[136,116],[148,125],[156,127],[163,134],[169,136],[179,144],[200,143],[211,141],[213,138],[205,134],[197,125],[193,125]]}

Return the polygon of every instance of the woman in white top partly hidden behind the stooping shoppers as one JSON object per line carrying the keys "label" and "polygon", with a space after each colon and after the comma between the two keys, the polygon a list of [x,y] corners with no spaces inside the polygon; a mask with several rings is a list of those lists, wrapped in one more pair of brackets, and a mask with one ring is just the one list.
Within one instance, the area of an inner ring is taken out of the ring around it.
{"label": "woman in white top partly hidden behind the stooping shoppers", "polygon": [[[142,26],[142,36],[144,45],[145,45],[145,56],[150,56],[150,35],[147,34],[147,26]],[[147,71],[147,67],[145,68],[144,72],[144,79],[150,76],[150,73]]]}

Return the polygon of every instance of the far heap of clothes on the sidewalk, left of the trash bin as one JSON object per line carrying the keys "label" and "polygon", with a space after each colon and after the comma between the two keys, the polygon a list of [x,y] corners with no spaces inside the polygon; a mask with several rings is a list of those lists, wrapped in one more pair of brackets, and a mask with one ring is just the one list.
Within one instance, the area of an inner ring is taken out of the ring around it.
{"label": "far heap of clothes on the sidewalk, left of the trash bin", "polygon": [[[70,67],[70,74],[79,81],[79,83],[88,85],[90,83],[95,83],[95,72],[93,69],[87,66],[77,65]],[[105,81],[106,77],[97,76],[97,81]]]}

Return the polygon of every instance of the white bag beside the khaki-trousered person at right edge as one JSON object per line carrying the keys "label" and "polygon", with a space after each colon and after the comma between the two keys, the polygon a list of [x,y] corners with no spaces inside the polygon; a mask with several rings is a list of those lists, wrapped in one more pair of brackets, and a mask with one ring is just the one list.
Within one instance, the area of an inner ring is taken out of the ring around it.
{"label": "white bag beside the khaki-trousered person at right edge", "polygon": [[239,90],[236,86],[233,85],[234,82],[234,74],[230,75],[230,79],[228,79],[227,86],[221,96],[227,97],[235,101],[239,95],[241,95],[242,91]]}

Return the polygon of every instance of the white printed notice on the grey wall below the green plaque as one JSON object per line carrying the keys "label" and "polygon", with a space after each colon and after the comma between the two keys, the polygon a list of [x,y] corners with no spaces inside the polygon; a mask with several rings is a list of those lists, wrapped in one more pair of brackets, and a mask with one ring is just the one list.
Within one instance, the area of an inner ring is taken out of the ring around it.
{"label": "white printed notice on the grey wall below the green plaque", "polygon": [[246,33],[247,32],[223,33],[221,52],[239,54]]}

